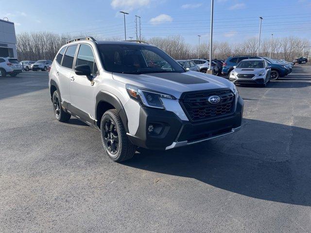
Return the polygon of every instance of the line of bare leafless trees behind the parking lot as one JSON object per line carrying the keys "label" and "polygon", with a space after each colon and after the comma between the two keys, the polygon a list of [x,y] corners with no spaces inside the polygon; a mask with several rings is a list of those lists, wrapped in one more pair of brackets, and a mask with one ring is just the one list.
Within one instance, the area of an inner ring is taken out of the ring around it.
{"label": "line of bare leafless trees behind the parking lot", "polygon": [[[83,35],[81,35],[83,36]],[[96,38],[96,36],[94,36]],[[17,55],[19,60],[52,60],[59,48],[71,39],[70,35],[50,32],[20,33],[17,35]],[[105,40],[121,40],[121,38],[97,38]],[[152,37],[147,40],[160,49],[167,52],[174,59],[190,59],[198,57],[198,46],[192,46],[185,42],[181,35]],[[271,40],[263,39],[260,43],[259,55],[270,55]],[[311,49],[311,43],[307,39],[294,36],[274,38],[271,57],[291,61],[295,57],[307,56]],[[249,38],[242,43],[213,42],[213,58],[226,59],[232,55],[257,55],[258,39]],[[209,44],[201,43],[199,57],[209,57]]]}

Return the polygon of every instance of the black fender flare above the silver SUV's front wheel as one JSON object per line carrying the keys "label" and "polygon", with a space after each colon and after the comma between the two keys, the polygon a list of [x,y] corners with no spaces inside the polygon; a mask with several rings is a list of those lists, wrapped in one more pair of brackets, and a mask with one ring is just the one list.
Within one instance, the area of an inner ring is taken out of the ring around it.
{"label": "black fender flare above the silver SUV's front wheel", "polygon": [[128,120],[121,101],[114,94],[103,90],[96,95],[95,120],[97,125],[101,122],[101,119],[98,119],[97,117],[97,106],[100,102],[106,102],[114,106],[121,117],[126,133],[129,133],[127,126]]}

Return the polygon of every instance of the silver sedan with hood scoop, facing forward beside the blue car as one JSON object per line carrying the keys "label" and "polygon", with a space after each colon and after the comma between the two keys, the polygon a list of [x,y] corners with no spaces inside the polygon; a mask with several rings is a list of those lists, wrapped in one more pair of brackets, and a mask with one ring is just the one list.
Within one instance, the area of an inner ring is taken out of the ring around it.
{"label": "silver sedan with hood scoop, facing forward beside the blue car", "polygon": [[270,82],[271,67],[264,59],[242,60],[230,72],[229,80],[233,83],[260,84],[266,86]]}

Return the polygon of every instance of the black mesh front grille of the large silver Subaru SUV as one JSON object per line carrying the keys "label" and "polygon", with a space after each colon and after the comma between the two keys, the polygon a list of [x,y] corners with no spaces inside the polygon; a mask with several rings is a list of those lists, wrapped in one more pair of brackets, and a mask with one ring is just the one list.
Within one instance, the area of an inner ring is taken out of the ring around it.
{"label": "black mesh front grille of the large silver Subaru SUV", "polygon": [[[220,102],[217,104],[208,102],[210,96],[219,96]],[[234,94],[229,89],[188,92],[181,97],[181,105],[191,121],[228,115],[233,111],[233,103]]]}

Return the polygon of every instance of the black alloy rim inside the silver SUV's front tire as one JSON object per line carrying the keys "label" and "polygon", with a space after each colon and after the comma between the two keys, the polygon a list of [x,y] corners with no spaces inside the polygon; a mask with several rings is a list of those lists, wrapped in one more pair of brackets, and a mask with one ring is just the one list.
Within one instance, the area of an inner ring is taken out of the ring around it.
{"label": "black alloy rim inside the silver SUV's front tire", "polygon": [[107,150],[116,154],[119,150],[119,134],[115,122],[111,118],[104,121],[103,139]]}

